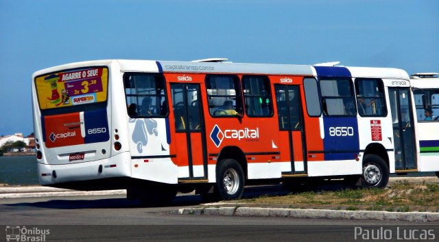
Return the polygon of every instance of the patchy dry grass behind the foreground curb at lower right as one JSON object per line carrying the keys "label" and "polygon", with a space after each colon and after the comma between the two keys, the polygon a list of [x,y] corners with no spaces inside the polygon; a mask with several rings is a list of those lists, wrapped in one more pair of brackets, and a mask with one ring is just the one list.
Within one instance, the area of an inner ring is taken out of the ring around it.
{"label": "patchy dry grass behind the foreground curb at lower right", "polygon": [[439,211],[439,185],[430,183],[408,183],[398,181],[385,189],[337,189],[325,191],[304,191],[285,196],[264,194],[257,198],[243,200],[255,204],[278,204],[290,208],[320,208],[368,211],[406,212],[410,208],[423,211]]}

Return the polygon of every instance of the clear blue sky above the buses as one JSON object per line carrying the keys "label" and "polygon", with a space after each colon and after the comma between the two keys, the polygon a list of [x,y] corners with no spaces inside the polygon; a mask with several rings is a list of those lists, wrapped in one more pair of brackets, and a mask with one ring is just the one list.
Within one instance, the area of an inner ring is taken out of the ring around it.
{"label": "clear blue sky above the buses", "polygon": [[439,72],[439,1],[0,0],[0,136],[33,132],[36,70],[209,57]]}

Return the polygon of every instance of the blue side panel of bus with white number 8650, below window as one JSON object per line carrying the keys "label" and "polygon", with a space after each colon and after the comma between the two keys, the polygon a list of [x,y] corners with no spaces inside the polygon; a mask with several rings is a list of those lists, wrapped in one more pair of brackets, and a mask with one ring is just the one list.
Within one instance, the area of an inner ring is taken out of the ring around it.
{"label": "blue side panel of bus with white number 8650, below window", "polygon": [[[356,117],[325,117],[323,118],[323,126],[325,161],[357,158],[359,154],[359,135]],[[351,152],[346,152],[346,150]]]}

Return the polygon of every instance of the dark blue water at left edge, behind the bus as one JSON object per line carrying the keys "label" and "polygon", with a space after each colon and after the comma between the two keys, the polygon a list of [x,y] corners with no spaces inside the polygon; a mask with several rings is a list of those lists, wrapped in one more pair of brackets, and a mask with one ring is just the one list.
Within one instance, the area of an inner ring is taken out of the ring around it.
{"label": "dark blue water at left edge, behind the bus", "polygon": [[0,157],[0,184],[38,185],[36,157]]}

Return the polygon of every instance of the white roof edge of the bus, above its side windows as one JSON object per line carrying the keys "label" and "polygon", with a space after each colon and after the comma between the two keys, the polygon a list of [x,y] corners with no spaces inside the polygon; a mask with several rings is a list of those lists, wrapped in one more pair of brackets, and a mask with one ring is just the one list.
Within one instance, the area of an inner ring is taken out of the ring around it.
{"label": "white roof edge of the bus, above its side windows", "polygon": [[[225,59],[225,58],[224,58]],[[204,61],[205,59],[198,60]],[[209,59],[210,60],[210,59]],[[215,59],[216,60],[216,59]],[[223,59],[222,59],[223,60]],[[265,75],[303,75],[316,76],[316,70],[311,65],[295,64],[250,64],[233,62],[179,62],[134,59],[103,59],[87,62],[63,64],[34,72],[34,77],[84,66],[116,65],[123,72],[193,72],[193,73],[240,73]],[[327,68],[347,68],[352,77],[376,77],[389,79],[409,79],[407,72],[396,68],[367,68],[348,66],[327,66]]]}

